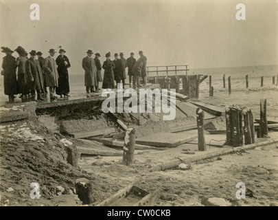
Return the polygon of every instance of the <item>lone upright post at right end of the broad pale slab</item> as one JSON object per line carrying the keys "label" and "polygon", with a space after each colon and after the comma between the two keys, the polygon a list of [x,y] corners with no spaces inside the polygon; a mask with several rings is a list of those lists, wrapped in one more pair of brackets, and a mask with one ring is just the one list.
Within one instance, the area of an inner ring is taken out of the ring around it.
{"label": "lone upright post at right end of the broad pale slab", "polygon": [[205,113],[202,109],[196,109],[197,129],[198,129],[198,151],[207,151],[205,133],[204,133],[204,118]]}

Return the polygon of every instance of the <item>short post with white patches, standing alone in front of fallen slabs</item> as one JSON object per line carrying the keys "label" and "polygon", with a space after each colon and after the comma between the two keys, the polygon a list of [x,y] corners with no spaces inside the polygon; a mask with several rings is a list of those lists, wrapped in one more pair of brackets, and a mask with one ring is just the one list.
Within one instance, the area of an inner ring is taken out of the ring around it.
{"label": "short post with white patches, standing alone in front of fallen slabs", "polygon": [[135,129],[126,129],[126,136],[124,137],[124,154],[123,164],[129,166],[134,161],[135,149]]}

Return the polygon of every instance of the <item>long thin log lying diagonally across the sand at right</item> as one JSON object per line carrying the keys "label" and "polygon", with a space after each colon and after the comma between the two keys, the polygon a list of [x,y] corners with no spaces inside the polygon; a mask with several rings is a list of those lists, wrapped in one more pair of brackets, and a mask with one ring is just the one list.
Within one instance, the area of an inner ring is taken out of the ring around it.
{"label": "long thin log lying diagonally across the sand at right", "polygon": [[[258,146],[274,144],[274,143],[277,143],[277,142],[278,142],[278,139],[267,140],[265,142],[259,142],[257,144],[248,144],[248,145],[244,146],[244,150],[250,150],[250,149],[256,148]],[[165,162],[163,164],[159,164],[157,166],[154,166],[153,168],[150,169],[150,172],[175,168],[176,166],[178,166],[182,162],[193,163],[193,162],[198,162],[198,161],[203,160],[203,159],[210,159],[210,158],[213,158],[213,157],[218,157],[218,156],[221,156],[221,155],[226,155],[226,154],[229,154],[229,153],[236,153],[236,152],[240,152],[240,151],[242,151],[241,147],[240,148],[229,148],[229,149],[223,149],[223,150],[213,152],[213,153],[206,153],[205,155],[199,155],[199,156],[192,157],[192,158],[174,159],[172,161]]]}

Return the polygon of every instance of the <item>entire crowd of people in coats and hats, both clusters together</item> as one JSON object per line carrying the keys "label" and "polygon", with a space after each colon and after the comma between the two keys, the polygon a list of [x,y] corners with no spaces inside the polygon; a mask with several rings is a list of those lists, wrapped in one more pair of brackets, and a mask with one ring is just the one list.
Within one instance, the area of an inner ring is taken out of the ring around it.
{"label": "entire crowd of people in coats and hats, both clusters together", "polygon": [[[4,76],[4,92],[9,96],[9,102],[14,102],[16,94],[21,94],[20,98],[23,102],[28,100],[37,101],[45,100],[47,97],[47,87],[49,87],[50,99],[58,98],[60,95],[69,96],[69,72],[71,67],[69,58],[65,56],[65,50],[60,48],[59,56],[54,59],[56,51],[49,50],[49,56],[43,58],[42,52],[32,50],[30,58],[27,57],[27,52],[23,47],[19,46],[14,50],[19,54],[18,58],[14,58],[8,47],[1,47],[2,52],[6,54],[3,58]],[[139,51],[140,58],[135,59],[134,53],[130,53],[129,58],[124,58],[121,52],[119,55],[114,54],[115,59],[111,61],[111,53],[106,53],[106,61],[103,65],[100,63],[100,54],[96,53],[95,58],[92,58],[93,51],[88,50],[87,56],[82,60],[82,68],[85,71],[84,85],[86,87],[87,96],[93,92],[100,90],[99,83],[102,82],[102,89],[115,89],[118,83],[126,85],[126,67],[128,67],[128,84],[133,88],[139,88],[140,78],[145,84],[146,62],[147,58]],[[36,56],[38,58],[36,58]],[[16,68],[17,78],[16,78]],[[104,77],[102,79],[102,69],[104,69]],[[115,85],[116,83],[116,85]],[[37,98],[36,98],[37,94]]]}

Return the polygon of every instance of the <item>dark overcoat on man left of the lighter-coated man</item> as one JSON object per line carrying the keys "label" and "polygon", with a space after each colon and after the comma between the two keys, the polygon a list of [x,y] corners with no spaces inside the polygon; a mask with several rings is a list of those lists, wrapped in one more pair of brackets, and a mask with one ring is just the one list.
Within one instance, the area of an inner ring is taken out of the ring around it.
{"label": "dark overcoat on man left of the lighter-coated man", "polygon": [[[29,58],[25,64],[27,82],[30,90],[42,90],[43,89],[43,72],[40,68],[40,63],[38,60]],[[34,81],[31,81],[34,79]]]}

